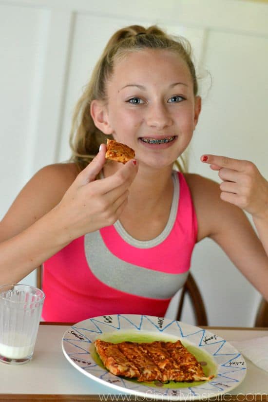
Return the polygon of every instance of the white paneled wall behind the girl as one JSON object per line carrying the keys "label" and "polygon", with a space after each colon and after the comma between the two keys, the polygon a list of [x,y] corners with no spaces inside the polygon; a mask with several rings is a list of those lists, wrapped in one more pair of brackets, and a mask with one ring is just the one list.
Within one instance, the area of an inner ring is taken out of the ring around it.
{"label": "white paneled wall behind the girl", "polygon": [[[193,45],[203,111],[190,171],[218,180],[199,162],[216,153],[252,160],[268,177],[267,21],[268,4],[243,0],[0,0],[0,217],[34,172],[69,157],[81,88],[115,29],[134,23],[158,23]],[[211,325],[253,324],[260,296],[217,245],[196,246],[192,272]],[[188,305],[182,320],[192,322]]]}

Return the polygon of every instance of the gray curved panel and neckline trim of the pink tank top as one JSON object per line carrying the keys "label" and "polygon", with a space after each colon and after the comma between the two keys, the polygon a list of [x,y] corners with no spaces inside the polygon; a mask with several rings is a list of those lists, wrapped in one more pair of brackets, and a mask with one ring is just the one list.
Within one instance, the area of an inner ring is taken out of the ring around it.
{"label": "gray curved panel and neckline trim of the pink tank top", "polygon": [[[163,237],[163,232],[160,234],[161,241],[163,241],[172,230],[178,206],[177,174],[173,174],[172,178],[174,182],[172,208],[170,219],[163,231],[165,236]],[[118,230],[118,227],[116,229]],[[130,241],[132,239],[130,239],[129,235],[125,239],[124,234],[126,234],[126,232],[124,233],[124,230],[120,230],[121,237],[123,237],[127,243],[138,243],[136,247],[141,246],[142,243],[143,247],[141,248],[143,249],[155,246],[154,239],[148,242],[140,242],[137,240],[135,242],[133,238],[133,241]],[[157,240],[159,244],[159,236],[157,236]],[[180,274],[159,272],[153,269],[142,268],[117,258],[107,249],[98,230],[85,235],[84,247],[87,263],[99,281],[107,286],[136,296],[168,299],[184,285],[188,276],[188,271]]]}

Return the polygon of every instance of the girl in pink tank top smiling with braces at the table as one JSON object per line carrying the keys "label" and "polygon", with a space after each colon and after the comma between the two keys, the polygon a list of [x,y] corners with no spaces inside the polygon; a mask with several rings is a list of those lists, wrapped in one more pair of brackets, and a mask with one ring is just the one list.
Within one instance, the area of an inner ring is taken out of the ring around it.
{"label": "girl in pink tank top smiling with braces at the table", "polygon": [[[77,104],[71,162],[36,173],[0,224],[1,284],[44,263],[45,320],[164,316],[208,236],[268,300],[268,182],[251,162],[215,155],[201,160],[220,186],[173,171],[198,122],[197,94],[184,40],[155,26],[116,32]],[[106,138],[136,160],[106,163]]]}

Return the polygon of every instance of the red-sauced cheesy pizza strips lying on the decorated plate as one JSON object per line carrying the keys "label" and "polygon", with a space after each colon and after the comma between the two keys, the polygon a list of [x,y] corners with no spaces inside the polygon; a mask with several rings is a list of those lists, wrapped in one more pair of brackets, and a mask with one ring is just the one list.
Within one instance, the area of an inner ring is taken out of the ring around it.
{"label": "red-sauced cheesy pizza strips lying on the decorated plate", "polygon": [[207,381],[202,366],[180,341],[151,343],[95,341],[104,366],[116,376],[142,381]]}

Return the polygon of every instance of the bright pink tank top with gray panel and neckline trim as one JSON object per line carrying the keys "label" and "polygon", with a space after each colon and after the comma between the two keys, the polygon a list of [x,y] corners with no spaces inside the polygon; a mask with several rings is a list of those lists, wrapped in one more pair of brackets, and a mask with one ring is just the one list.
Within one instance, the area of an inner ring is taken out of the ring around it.
{"label": "bright pink tank top with gray panel and neckline trim", "polygon": [[197,235],[185,178],[173,172],[172,179],[169,220],[153,240],[134,239],[117,221],[77,238],[44,263],[45,321],[165,315],[172,296],[187,279]]}

